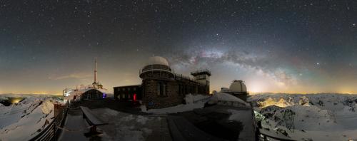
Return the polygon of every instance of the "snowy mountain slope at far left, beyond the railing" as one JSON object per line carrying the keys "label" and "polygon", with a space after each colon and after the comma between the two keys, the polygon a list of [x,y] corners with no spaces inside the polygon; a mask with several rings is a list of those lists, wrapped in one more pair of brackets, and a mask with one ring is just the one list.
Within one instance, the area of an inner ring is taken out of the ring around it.
{"label": "snowy mountain slope at far left, beyond the railing", "polygon": [[52,121],[54,104],[51,97],[0,95],[0,98],[11,96],[23,97],[24,100],[10,106],[0,104],[0,140],[29,140]]}

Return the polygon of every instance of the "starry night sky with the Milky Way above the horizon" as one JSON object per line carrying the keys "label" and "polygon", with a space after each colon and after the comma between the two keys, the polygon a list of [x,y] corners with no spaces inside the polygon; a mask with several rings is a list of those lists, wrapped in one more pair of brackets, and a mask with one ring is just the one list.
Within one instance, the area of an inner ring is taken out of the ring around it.
{"label": "starry night sky with the Milky Way above the horizon", "polygon": [[141,83],[150,56],[211,90],[357,93],[357,1],[0,1],[0,93]]}

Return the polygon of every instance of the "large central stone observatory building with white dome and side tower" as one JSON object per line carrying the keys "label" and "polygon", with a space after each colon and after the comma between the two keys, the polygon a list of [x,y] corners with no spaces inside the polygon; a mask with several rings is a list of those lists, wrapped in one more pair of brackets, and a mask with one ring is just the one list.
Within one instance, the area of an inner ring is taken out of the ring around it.
{"label": "large central stone observatory building with white dome and side tower", "polygon": [[176,74],[166,58],[154,56],[139,71],[141,85],[114,87],[119,100],[142,100],[147,109],[167,108],[184,103],[186,94],[209,95],[208,70],[194,71],[193,78]]}

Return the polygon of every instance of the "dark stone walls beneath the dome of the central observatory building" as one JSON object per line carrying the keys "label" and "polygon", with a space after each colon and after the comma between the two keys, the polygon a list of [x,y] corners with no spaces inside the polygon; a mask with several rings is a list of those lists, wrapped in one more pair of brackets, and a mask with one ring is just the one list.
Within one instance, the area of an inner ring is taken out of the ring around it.
{"label": "dark stone walls beneath the dome of the central observatory building", "polygon": [[[188,93],[209,94],[208,85],[201,85],[185,78],[175,78],[169,72],[151,71],[142,73],[140,77],[142,78],[143,104],[147,109],[168,108],[182,104],[184,96]],[[166,85],[166,95],[158,95],[159,83]]]}

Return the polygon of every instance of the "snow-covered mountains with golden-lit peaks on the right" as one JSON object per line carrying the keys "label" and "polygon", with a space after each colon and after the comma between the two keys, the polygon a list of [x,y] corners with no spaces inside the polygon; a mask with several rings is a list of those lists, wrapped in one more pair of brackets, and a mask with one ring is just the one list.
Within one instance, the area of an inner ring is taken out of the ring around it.
{"label": "snow-covered mountains with golden-lit peaks on the right", "polygon": [[269,93],[248,100],[264,115],[263,127],[293,140],[357,139],[357,95]]}

